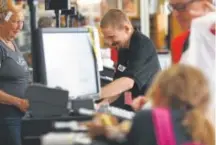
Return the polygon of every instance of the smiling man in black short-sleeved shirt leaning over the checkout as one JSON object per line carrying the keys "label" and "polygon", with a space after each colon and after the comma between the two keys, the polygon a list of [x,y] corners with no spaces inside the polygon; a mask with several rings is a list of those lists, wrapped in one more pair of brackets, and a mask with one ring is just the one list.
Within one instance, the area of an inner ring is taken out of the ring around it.
{"label": "smiling man in black short-sleeved shirt leaning over the checkout", "polygon": [[121,10],[109,10],[100,27],[105,43],[119,51],[114,81],[102,88],[101,104],[108,102],[131,110],[132,100],[145,94],[160,70],[156,49],[148,37],[133,28]]}

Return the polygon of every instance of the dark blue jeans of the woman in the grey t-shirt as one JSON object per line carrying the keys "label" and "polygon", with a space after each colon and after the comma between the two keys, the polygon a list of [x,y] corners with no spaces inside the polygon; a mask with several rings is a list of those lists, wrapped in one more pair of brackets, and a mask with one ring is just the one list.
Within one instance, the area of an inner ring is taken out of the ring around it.
{"label": "dark blue jeans of the woman in the grey t-shirt", "polygon": [[21,145],[21,118],[0,119],[0,145]]}

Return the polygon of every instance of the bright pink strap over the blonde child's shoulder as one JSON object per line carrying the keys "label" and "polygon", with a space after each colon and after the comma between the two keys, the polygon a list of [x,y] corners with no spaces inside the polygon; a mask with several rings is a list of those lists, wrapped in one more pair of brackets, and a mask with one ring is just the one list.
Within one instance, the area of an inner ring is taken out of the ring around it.
{"label": "bright pink strap over the blonde child's shoulder", "polygon": [[157,145],[176,145],[170,111],[166,108],[153,109],[152,118]]}

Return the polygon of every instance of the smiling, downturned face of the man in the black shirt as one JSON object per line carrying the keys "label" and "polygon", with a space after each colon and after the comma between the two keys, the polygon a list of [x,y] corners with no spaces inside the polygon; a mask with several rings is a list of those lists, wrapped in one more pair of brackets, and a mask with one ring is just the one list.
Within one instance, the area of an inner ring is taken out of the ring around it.
{"label": "smiling, downturned face of the man in the black shirt", "polygon": [[109,47],[116,49],[128,47],[127,44],[130,39],[130,33],[127,26],[122,29],[108,26],[106,28],[102,28],[101,30],[104,36],[104,41]]}

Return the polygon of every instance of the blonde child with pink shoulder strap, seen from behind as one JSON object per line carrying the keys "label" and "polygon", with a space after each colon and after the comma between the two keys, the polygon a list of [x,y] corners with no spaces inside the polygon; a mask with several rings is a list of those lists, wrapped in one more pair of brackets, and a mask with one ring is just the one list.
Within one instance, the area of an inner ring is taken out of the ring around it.
{"label": "blonde child with pink shoulder strap, seen from behind", "polygon": [[209,96],[206,78],[198,69],[173,65],[156,76],[147,92],[153,107],[137,113],[132,126],[115,125],[109,116],[106,125],[99,115],[89,125],[90,135],[113,143],[124,141],[123,133],[122,145],[214,145],[215,129],[205,117]]}

